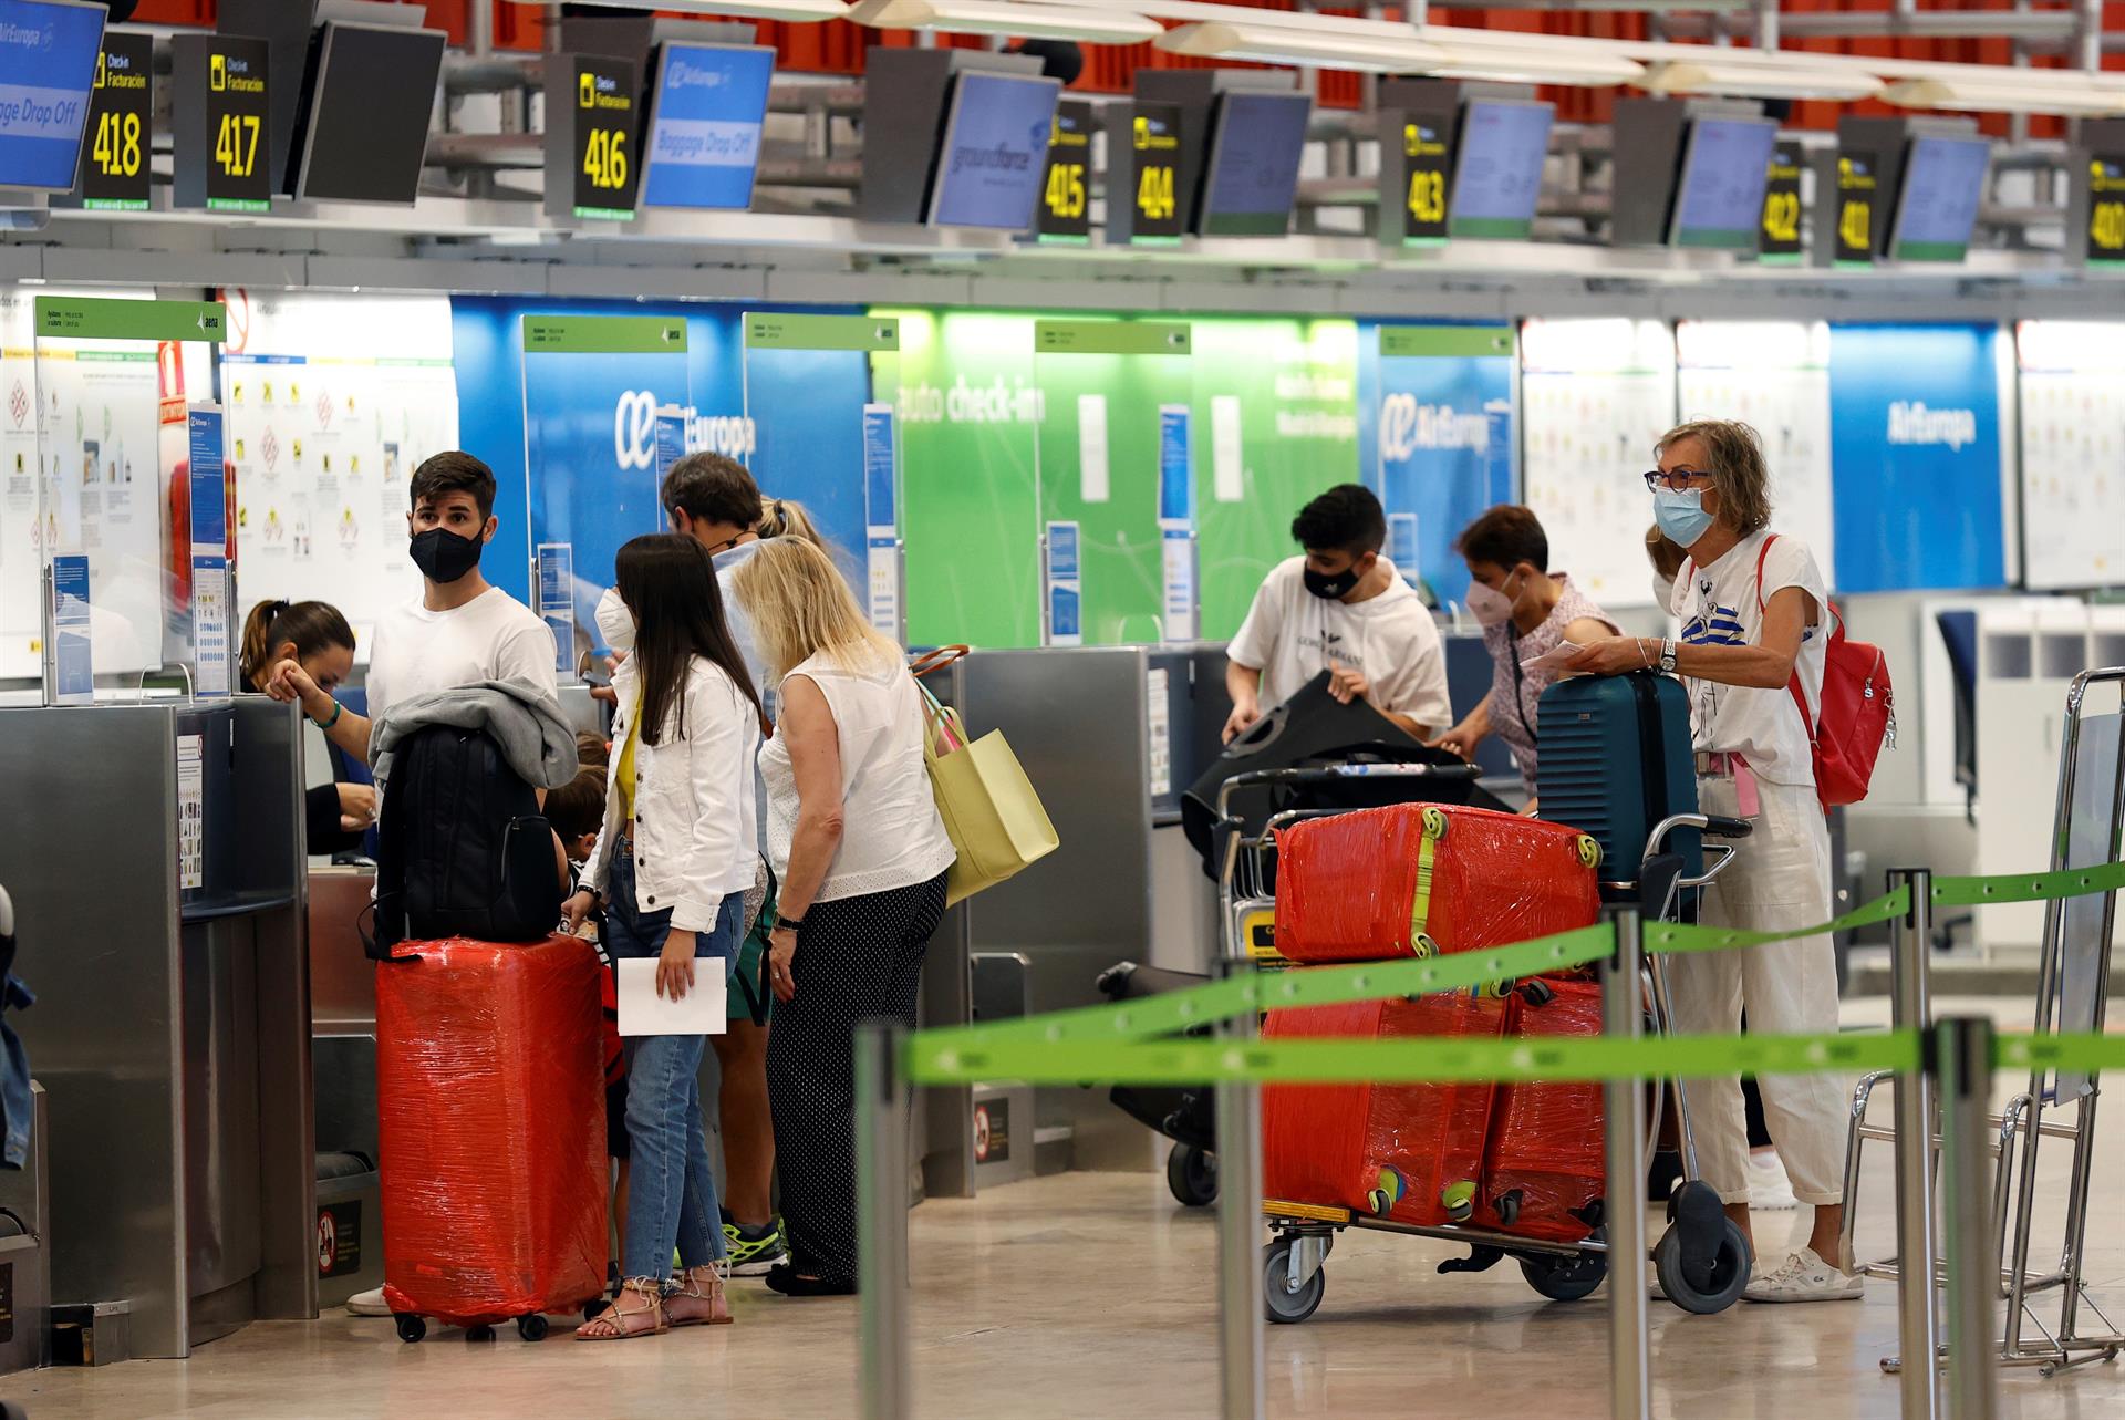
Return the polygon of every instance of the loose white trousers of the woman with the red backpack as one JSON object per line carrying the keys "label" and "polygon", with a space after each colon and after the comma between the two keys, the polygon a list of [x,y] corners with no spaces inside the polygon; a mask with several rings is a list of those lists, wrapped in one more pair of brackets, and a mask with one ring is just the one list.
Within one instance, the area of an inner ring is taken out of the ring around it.
{"label": "loose white trousers of the woman with the red backpack", "polygon": [[[1830,825],[1815,791],[1757,782],[1755,831],[1742,840],[1704,899],[1708,927],[1783,931],[1832,916]],[[1706,814],[1740,816],[1730,776],[1700,778]],[[1666,959],[1674,1029],[1683,1035],[1732,1035],[1742,1010],[1762,1035],[1828,1035],[1838,1029],[1838,967],[1828,935],[1742,946],[1723,952],[1674,952]],[[1762,1076],[1764,1122],[1802,1203],[1844,1201],[1844,1125],[1851,1082],[1842,1076]],[[1689,1080],[1689,1120],[1698,1167],[1721,1203],[1749,1201],[1749,1129],[1740,1078]]]}

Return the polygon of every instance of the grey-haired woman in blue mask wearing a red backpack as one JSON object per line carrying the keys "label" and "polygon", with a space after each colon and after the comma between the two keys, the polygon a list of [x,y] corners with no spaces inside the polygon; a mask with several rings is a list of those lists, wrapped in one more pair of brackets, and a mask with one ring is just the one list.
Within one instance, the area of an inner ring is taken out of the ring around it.
{"label": "grey-haired woman in blue mask wearing a red backpack", "polygon": [[[1753,825],[1734,865],[1706,895],[1717,927],[1791,931],[1830,920],[1830,827],[1815,789],[1830,591],[1815,555],[1770,531],[1770,470],[1755,429],[1732,419],[1679,425],[1655,444],[1645,476],[1660,529],[1687,548],[1668,606],[1681,640],[1617,636],[1581,650],[1566,670],[1660,670],[1689,689],[1698,804]],[[1732,1035],[1749,1029],[1815,1035],[1838,1029],[1838,976],[1830,935],[1668,961],[1674,1029]],[[1844,1088],[1832,1076],[1764,1076],[1764,1116],[1794,1180],[1815,1205],[1806,1246],[1757,1263],[1749,1301],[1859,1297],[1844,1271]],[[1749,1233],[1749,1137],[1740,1080],[1689,1080],[1698,1159],[1742,1233]]]}

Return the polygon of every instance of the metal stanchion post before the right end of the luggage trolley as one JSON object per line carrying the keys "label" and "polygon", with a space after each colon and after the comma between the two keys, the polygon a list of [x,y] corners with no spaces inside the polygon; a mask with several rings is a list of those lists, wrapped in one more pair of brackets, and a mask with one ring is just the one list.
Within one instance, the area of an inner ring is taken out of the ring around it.
{"label": "metal stanchion post before the right end of the luggage trolley", "polygon": [[[1638,908],[1615,908],[1609,923],[1615,927],[1615,954],[1602,974],[1602,1033],[1609,1039],[1638,1039],[1645,1018]],[[1647,1420],[1653,1375],[1645,1299],[1645,1093],[1638,1080],[1609,1080],[1602,1103],[1609,1165],[1609,1203],[1602,1210],[1609,1233],[1609,1414],[1615,1420]]]}

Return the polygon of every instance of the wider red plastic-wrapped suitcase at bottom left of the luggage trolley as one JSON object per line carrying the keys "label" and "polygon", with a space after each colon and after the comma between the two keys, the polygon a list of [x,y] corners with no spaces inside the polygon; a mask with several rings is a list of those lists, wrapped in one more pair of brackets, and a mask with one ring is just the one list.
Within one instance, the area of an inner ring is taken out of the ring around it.
{"label": "wider red plastic-wrapped suitcase at bottom left of the luggage trolley", "polygon": [[[1269,1012],[1264,1039],[1502,1035],[1507,1001],[1430,995]],[[1271,1084],[1262,1197],[1417,1227],[1464,1222],[1490,1133],[1492,1084]]]}

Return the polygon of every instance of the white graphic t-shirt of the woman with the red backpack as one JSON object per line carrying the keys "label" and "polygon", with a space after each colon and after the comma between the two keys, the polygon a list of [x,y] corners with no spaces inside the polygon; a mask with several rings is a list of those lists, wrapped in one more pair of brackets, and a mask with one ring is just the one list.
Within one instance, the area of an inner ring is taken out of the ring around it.
{"label": "white graphic t-shirt of the woman with the red backpack", "polygon": [[[1774,538],[1768,555],[1766,538]],[[1760,555],[1762,593],[1755,574]],[[1760,531],[1742,538],[1706,568],[1685,563],[1674,580],[1674,602],[1668,610],[1681,619],[1681,640],[1687,646],[1753,646],[1764,633],[1764,606],[1787,587],[1800,587],[1815,597],[1817,625],[1800,633],[1800,659],[1794,663],[1813,716],[1823,704],[1830,589],[1821,568],[1815,565],[1815,555],[1798,538]],[[1808,727],[1787,687],[1768,691],[1694,676],[1683,676],[1683,684],[1689,689],[1689,729],[1696,748],[1740,755],[1768,784],[1815,784]]]}

